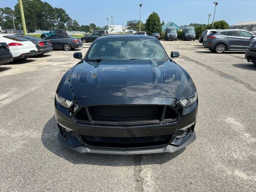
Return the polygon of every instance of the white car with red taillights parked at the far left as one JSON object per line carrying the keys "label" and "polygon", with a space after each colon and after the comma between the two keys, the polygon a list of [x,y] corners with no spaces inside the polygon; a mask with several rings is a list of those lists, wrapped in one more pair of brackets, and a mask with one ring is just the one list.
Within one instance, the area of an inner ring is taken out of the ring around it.
{"label": "white car with red taillights parked at the far left", "polygon": [[5,42],[9,45],[13,60],[26,59],[38,53],[35,44],[15,35],[0,34],[0,42]]}

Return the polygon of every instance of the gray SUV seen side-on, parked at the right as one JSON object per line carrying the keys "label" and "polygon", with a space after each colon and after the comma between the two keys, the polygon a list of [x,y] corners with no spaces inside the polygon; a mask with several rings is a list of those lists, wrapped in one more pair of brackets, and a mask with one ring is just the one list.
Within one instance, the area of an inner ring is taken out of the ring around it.
{"label": "gray SUV seen side-on, parked at the right", "polygon": [[204,47],[212,52],[224,53],[228,50],[246,50],[256,35],[244,29],[225,29],[207,35]]}

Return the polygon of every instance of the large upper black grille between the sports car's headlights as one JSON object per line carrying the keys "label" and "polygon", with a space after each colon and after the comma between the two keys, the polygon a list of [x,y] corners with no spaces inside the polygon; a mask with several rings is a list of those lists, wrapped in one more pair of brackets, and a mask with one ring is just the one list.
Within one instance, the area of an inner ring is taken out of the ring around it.
{"label": "large upper black grille between the sports car's headlights", "polygon": [[77,122],[103,125],[144,125],[174,122],[177,113],[164,105],[100,105],[82,108]]}

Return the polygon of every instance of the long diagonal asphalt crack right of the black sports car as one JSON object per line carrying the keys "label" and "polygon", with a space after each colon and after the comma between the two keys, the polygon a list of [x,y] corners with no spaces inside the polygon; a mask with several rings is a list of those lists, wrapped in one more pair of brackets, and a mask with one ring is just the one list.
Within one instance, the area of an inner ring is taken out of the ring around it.
{"label": "long diagonal asphalt crack right of the black sports car", "polygon": [[247,89],[249,89],[249,90],[251,90],[251,91],[253,91],[253,92],[256,92],[256,89],[253,88],[252,86],[250,86],[250,84],[247,84],[246,82],[241,81],[240,79],[238,79],[238,78],[236,78],[236,77],[234,77],[234,76],[230,76],[230,75],[227,74],[227,73],[223,73],[222,71],[215,70],[215,69],[213,69],[212,67],[209,67],[209,66],[207,66],[207,65],[205,65],[205,64],[202,64],[202,63],[200,63],[200,62],[198,62],[198,61],[195,61],[195,60],[193,60],[193,59],[191,59],[191,58],[189,58],[189,57],[186,57],[186,56],[184,56],[184,55],[182,55],[180,58],[184,58],[185,61],[194,62],[195,64],[198,64],[198,65],[200,65],[200,66],[206,68],[208,71],[210,71],[210,72],[212,72],[212,73],[215,73],[215,74],[217,74],[217,75],[219,75],[219,76],[221,76],[221,77],[223,77],[223,78],[225,78],[225,79],[229,79],[229,80],[231,80],[231,81],[235,81],[236,83],[239,83],[239,84],[243,85],[243,86],[246,87]]}

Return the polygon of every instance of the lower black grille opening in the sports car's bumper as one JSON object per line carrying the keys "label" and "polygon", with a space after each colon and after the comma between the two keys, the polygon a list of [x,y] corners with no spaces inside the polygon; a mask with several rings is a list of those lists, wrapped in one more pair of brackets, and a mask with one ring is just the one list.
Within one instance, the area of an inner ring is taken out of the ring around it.
{"label": "lower black grille opening in the sports car's bumper", "polygon": [[166,145],[172,135],[162,135],[154,137],[94,137],[81,136],[87,145],[114,148],[137,148],[148,146]]}

